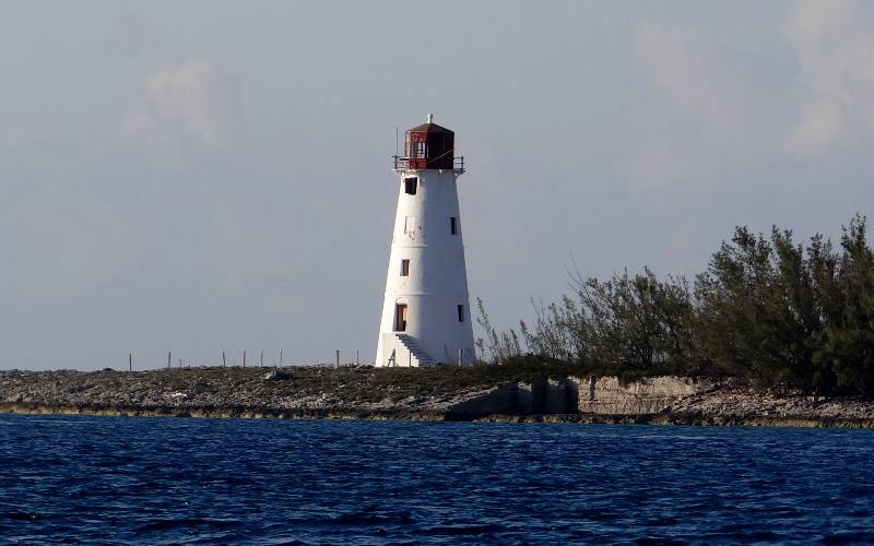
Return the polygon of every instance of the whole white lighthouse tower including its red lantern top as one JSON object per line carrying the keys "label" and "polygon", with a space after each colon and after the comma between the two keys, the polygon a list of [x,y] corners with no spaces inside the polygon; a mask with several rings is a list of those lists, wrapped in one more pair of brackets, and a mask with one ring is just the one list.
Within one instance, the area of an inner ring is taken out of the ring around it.
{"label": "whole white lighthouse tower including its red lantern top", "polygon": [[468,298],[454,133],[428,122],[406,131],[394,156],[398,213],[391,239],[377,366],[471,364]]}

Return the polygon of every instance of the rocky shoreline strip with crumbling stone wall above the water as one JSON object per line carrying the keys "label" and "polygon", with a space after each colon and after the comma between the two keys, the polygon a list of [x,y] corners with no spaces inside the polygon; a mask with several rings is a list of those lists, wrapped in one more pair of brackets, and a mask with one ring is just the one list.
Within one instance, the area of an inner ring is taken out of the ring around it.
{"label": "rocky shoreline strip with crumbling stone wall above the water", "polygon": [[731,379],[623,382],[551,368],[0,371],[0,412],[874,428],[874,401],[757,392]]}

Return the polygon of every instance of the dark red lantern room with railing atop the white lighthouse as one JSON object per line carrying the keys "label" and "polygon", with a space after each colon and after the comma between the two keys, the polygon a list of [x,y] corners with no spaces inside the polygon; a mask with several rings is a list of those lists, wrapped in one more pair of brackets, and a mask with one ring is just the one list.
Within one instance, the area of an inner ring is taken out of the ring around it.
{"label": "dark red lantern room with railing atop the white lighthouse", "polygon": [[[454,156],[456,133],[428,122],[409,129],[404,134],[404,155],[394,156],[395,169],[464,169],[464,158]],[[458,161],[457,161],[458,159]],[[457,167],[458,165],[458,167]]]}

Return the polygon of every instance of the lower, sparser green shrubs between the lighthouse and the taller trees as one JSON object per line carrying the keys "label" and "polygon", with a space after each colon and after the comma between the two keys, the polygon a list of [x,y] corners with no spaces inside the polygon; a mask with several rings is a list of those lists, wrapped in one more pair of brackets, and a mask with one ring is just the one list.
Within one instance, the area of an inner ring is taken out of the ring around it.
{"label": "lower, sparser green shrubs between the lighthouse and the taller trees", "polygon": [[480,301],[485,340],[481,349],[488,361],[505,361],[522,354],[550,360],[597,365],[637,371],[698,371],[698,358],[686,333],[693,320],[693,301],[685,278],[659,281],[645,270],[601,282],[576,275],[574,296],[560,304],[535,304],[532,324],[520,322],[516,331],[496,332]]}

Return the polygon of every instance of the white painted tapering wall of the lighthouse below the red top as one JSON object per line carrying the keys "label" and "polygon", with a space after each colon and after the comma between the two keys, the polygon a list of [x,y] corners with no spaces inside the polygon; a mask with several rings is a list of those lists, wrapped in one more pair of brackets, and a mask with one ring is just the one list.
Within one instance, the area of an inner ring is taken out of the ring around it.
{"label": "white painted tapering wall of the lighthouse below the red top", "polygon": [[[475,358],[468,273],[464,265],[464,230],[458,203],[459,170],[398,170],[398,209],[386,277],[386,298],[379,323],[376,365],[386,366],[395,351],[400,366],[418,359],[393,335],[394,305],[408,305],[411,336],[430,360],[470,364]],[[404,179],[417,177],[416,194],[404,191]],[[456,217],[456,235],[450,218]],[[413,218],[412,223],[409,218]],[[410,275],[401,276],[401,260],[410,260]],[[458,320],[458,305],[464,306],[464,321]]]}

